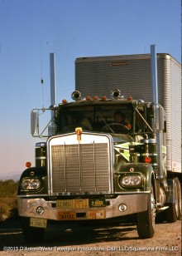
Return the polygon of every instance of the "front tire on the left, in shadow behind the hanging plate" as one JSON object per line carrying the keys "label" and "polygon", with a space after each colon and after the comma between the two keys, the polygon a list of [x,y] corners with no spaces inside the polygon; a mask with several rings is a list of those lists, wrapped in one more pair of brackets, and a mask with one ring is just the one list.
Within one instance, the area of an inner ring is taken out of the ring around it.
{"label": "front tire on the left, in shadow behind the hanging plate", "polygon": [[27,244],[40,243],[44,237],[45,229],[30,226],[30,218],[22,218],[22,231]]}

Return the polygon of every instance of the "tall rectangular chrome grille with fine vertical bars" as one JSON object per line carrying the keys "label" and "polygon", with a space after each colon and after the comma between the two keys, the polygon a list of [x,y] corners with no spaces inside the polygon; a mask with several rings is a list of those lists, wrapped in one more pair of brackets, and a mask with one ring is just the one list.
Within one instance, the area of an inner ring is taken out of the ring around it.
{"label": "tall rectangular chrome grille with fine vertical bars", "polygon": [[52,193],[109,192],[107,143],[51,145]]}

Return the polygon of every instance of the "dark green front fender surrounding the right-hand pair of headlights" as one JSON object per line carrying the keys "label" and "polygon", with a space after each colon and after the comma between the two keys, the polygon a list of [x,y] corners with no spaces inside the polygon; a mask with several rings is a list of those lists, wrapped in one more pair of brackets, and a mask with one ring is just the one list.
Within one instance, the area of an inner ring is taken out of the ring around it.
{"label": "dark green front fender surrounding the right-hand pair of headlights", "polygon": [[[142,183],[137,186],[123,187],[120,180],[123,175],[141,175]],[[114,170],[114,185],[116,192],[150,192],[151,182],[154,183],[154,170],[150,164],[146,163],[127,163],[118,164]],[[155,186],[155,184],[153,184]]]}

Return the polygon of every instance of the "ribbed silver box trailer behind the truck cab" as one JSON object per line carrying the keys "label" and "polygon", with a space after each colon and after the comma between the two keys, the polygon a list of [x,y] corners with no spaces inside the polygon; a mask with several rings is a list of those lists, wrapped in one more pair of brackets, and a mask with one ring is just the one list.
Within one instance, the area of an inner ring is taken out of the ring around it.
{"label": "ribbed silver box trailer behind the truck cab", "polygon": [[[169,54],[157,54],[159,104],[167,116],[167,170],[181,171],[181,65]],[[152,101],[151,55],[81,57],[75,61],[75,89],[82,96],[123,96]],[[171,149],[171,150],[170,150]]]}

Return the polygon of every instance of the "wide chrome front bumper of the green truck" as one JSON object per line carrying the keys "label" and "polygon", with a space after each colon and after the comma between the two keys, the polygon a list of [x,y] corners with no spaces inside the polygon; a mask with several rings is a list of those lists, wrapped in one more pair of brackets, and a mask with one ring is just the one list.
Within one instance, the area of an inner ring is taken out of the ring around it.
{"label": "wide chrome front bumper of the green truck", "polygon": [[[109,219],[123,215],[136,214],[146,211],[147,194],[122,194],[116,199],[106,199],[107,206],[93,208],[64,208],[56,209],[56,200],[43,198],[17,198],[18,214],[22,217],[61,220],[61,214],[74,213],[74,220]],[[37,208],[44,209],[43,214],[37,214]],[[91,213],[91,215],[90,215]],[[93,218],[90,218],[93,216]]]}

